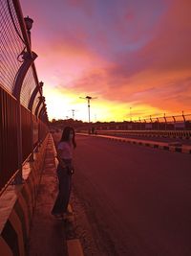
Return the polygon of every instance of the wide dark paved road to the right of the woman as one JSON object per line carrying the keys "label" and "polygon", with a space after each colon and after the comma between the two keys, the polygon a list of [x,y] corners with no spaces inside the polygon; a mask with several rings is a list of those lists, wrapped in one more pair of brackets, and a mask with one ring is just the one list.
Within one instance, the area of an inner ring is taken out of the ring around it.
{"label": "wide dark paved road to the right of the woman", "polygon": [[74,154],[97,256],[191,255],[189,154],[80,135]]}

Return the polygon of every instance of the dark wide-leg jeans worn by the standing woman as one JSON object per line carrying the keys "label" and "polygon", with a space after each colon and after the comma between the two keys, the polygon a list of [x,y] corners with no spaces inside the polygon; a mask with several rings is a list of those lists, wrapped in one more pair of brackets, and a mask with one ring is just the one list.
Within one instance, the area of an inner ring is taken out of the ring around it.
{"label": "dark wide-leg jeans worn by the standing woman", "polygon": [[57,177],[59,181],[59,191],[53,205],[52,214],[63,214],[67,211],[71,195],[72,175],[68,173],[67,168],[63,168],[58,164]]}

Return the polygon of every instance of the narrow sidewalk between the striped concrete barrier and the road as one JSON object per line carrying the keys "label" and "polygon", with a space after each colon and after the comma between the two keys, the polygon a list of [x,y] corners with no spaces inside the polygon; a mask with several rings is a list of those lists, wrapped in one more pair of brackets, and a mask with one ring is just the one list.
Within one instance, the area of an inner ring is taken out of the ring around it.
{"label": "narrow sidewalk between the striped concrete barrier and the road", "polygon": [[57,221],[51,215],[57,193],[54,155],[53,139],[50,136],[32,218],[28,244],[30,256],[68,255],[64,221]]}

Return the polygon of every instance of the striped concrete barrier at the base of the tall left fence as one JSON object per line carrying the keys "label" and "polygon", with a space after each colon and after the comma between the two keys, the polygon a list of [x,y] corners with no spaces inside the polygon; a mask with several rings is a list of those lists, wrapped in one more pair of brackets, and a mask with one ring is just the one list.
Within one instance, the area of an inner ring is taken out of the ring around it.
{"label": "striped concrete barrier at the base of the tall left fence", "polygon": [[0,255],[26,255],[32,215],[40,182],[48,135],[23,166],[22,185],[10,185],[0,198]]}

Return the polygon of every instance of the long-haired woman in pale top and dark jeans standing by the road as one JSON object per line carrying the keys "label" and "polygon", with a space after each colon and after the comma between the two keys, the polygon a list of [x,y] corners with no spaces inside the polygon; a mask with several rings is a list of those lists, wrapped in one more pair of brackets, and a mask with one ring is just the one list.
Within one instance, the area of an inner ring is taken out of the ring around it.
{"label": "long-haired woman in pale top and dark jeans standing by the road", "polygon": [[64,128],[57,146],[58,166],[56,173],[59,185],[52,214],[58,218],[64,218],[69,215],[67,208],[71,195],[72,175],[74,174],[73,150],[76,147],[74,135],[74,128]]}

